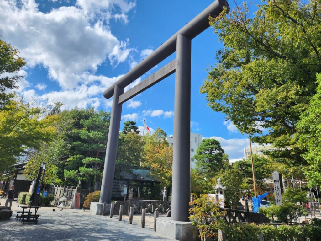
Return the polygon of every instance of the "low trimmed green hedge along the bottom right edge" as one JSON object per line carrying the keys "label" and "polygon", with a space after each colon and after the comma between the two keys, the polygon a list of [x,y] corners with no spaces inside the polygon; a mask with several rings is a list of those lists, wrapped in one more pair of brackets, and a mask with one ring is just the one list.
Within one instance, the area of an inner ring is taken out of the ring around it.
{"label": "low trimmed green hedge along the bottom right edge", "polygon": [[259,233],[264,241],[318,241],[321,226],[232,224],[225,228],[225,233],[227,241],[259,241]]}

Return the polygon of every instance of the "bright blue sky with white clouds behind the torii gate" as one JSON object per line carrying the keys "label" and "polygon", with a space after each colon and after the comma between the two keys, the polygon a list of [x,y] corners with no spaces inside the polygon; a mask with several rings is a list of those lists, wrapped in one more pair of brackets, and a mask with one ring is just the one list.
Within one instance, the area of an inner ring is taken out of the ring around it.
{"label": "bright blue sky with white clouds behind the torii gate", "polygon": [[[112,100],[102,92],[211,3],[0,0],[0,35],[28,63],[21,71],[20,95],[61,101],[65,108],[110,110]],[[231,159],[242,158],[248,139],[199,93],[206,68],[216,63],[221,47],[210,28],[192,41],[191,132],[217,138]],[[134,84],[174,58],[175,53]],[[134,120],[142,129],[145,119],[150,128],[173,134],[174,80],[175,75],[169,76],[125,103],[122,121]]]}

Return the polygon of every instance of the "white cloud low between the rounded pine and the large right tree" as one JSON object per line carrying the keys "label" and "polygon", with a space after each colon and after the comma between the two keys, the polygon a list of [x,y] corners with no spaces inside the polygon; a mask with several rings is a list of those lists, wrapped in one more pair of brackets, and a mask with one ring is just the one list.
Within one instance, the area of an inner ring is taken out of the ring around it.
{"label": "white cloud low between the rounded pine and the large right tree", "polygon": [[[206,139],[207,137],[204,137]],[[229,155],[230,159],[242,158],[244,156],[244,148],[248,147],[248,138],[232,138],[224,139],[222,137],[210,137],[221,143],[224,152]]]}

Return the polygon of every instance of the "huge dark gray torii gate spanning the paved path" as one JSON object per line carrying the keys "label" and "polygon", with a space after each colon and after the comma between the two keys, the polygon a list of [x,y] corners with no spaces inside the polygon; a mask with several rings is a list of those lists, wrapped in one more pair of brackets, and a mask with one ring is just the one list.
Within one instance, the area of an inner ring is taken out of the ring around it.
{"label": "huge dark gray torii gate spanning the paved path", "polygon": [[[226,0],[215,0],[215,2],[205,8],[125,76],[121,77],[115,84],[104,91],[105,98],[109,99],[113,96],[114,99],[101,183],[100,203],[104,201],[106,203],[111,202],[123,103],[176,72],[171,219],[175,221],[188,221],[188,203],[191,194],[191,40],[209,27],[209,16],[218,16],[224,6],[229,8]],[[124,93],[126,86],[175,51],[176,59]]]}

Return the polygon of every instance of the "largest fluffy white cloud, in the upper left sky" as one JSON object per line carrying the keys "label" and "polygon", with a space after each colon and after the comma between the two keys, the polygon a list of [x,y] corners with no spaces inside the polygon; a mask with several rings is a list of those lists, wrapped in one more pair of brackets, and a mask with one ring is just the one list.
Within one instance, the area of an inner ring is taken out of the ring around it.
{"label": "largest fluffy white cloud, in the upper left sky", "polygon": [[0,35],[20,50],[29,67],[43,65],[63,90],[73,89],[106,58],[114,67],[126,60],[128,39],[118,40],[106,23],[134,6],[125,0],[78,0],[76,6],[43,13],[34,0],[2,0]]}

